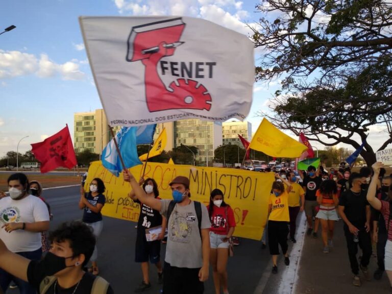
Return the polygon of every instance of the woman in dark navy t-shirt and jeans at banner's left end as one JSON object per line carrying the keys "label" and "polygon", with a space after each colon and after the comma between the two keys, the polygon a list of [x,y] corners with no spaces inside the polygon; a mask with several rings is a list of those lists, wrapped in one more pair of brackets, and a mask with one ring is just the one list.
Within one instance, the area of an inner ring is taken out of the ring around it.
{"label": "woman in dark navy t-shirt and jeans at banner's left end", "polygon": [[[90,183],[90,191],[85,192],[83,186],[80,188],[80,201],[79,208],[84,209],[83,211],[83,223],[91,227],[96,238],[101,235],[103,228],[103,220],[101,210],[105,205],[105,185],[100,178],[95,178]],[[98,251],[96,245],[94,252],[91,256],[92,266],[89,268],[89,272],[93,275],[98,275],[99,269],[96,263]]]}

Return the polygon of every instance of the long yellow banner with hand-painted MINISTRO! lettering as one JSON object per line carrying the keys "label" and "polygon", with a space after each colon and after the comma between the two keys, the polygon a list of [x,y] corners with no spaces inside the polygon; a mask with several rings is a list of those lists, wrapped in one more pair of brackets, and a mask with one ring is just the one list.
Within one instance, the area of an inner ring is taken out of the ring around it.
{"label": "long yellow banner with hand-painted MINISTRO! lettering", "polygon": [[[130,168],[138,180],[142,165]],[[149,162],[144,178],[153,178],[158,184],[159,197],[172,199],[169,183],[177,176],[190,180],[191,199],[209,205],[210,192],[218,188],[223,191],[225,202],[234,210],[237,227],[234,236],[260,240],[267,219],[268,197],[274,181],[273,173],[222,167],[197,167]],[[137,222],[140,206],[128,197],[131,190],[122,174],[116,178],[101,161],[94,161],[88,169],[86,183],[101,178],[106,187],[106,204],[102,213],[120,219]],[[88,184],[86,184],[88,186]]]}

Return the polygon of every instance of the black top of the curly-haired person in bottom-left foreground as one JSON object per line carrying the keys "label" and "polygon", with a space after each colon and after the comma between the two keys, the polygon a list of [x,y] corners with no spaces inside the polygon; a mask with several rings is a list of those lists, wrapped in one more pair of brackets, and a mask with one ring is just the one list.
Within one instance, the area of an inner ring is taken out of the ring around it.
{"label": "black top of the curly-haired person in bottom-left foreground", "polygon": [[[39,292],[39,285],[41,284],[41,281],[44,278],[45,278],[44,269],[42,268],[39,261],[36,260],[30,261],[29,266],[27,268],[27,279],[29,283],[32,284],[37,289],[37,292]],[[85,273],[82,277],[82,280],[80,280],[79,285],[76,284],[67,289],[61,288],[60,285],[57,283],[56,294],[72,294],[74,293],[75,289],[76,289],[75,294],[90,294],[94,279],[95,276],[93,276],[90,273]],[[55,293],[55,283],[53,283],[45,293],[40,293],[40,294],[52,294],[52,293]],[[113,294],[113,293],[114,291],[112,287],[109,285],[106,294]]]}

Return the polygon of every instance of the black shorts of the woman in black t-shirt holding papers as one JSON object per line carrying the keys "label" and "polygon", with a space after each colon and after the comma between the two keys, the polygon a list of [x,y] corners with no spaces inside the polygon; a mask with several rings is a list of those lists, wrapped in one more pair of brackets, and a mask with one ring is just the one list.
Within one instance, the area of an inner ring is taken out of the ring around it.
{"label": "black shorts of the woman in black t-shirt holding papers", "polygon": [[147,242],[145,236],[138,234],[136,237],[135,262],[157,263],[161,259],[161,241]]}

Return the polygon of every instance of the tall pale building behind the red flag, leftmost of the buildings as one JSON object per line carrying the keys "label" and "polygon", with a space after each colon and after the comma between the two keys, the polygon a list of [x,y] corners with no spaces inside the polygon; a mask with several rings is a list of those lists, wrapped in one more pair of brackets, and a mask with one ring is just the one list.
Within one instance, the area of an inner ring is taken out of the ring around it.
{"label": "tall pale building behind the red flag, leftmost of the buildings", "polygon": [[74,148],[76,153],[89,150],[101,154],[102,149],[111,138],[103,109],[74,114]]}

